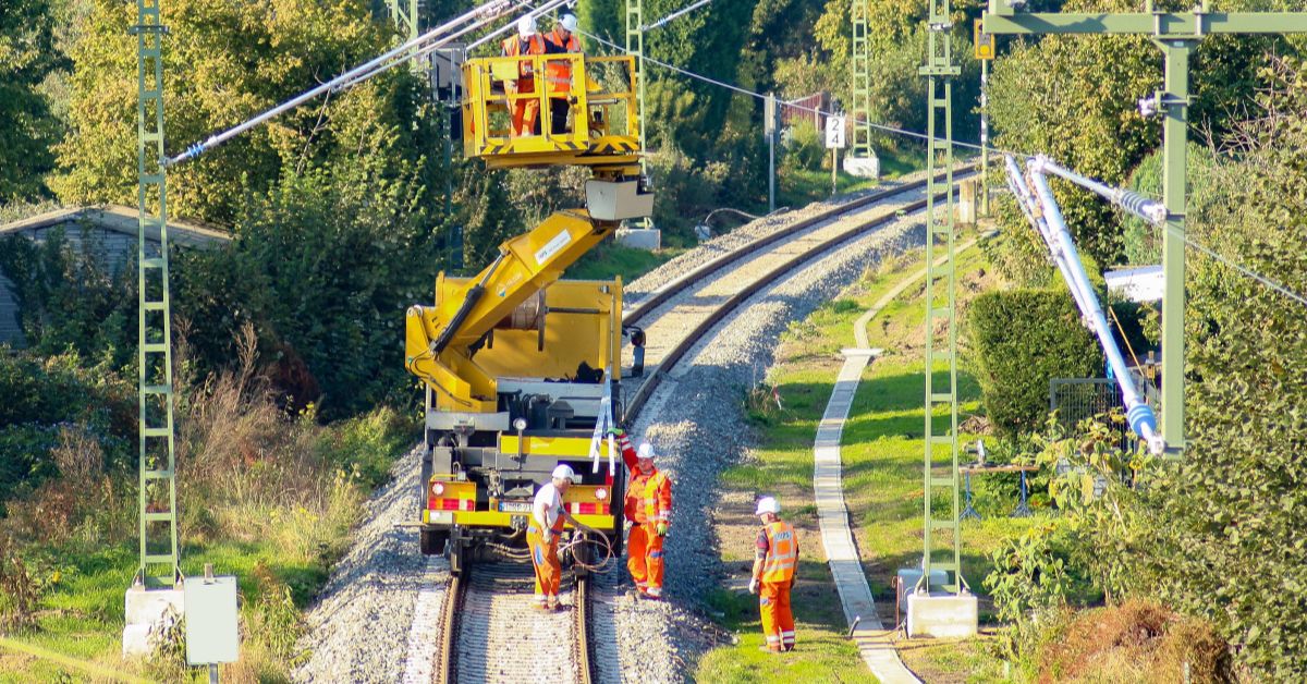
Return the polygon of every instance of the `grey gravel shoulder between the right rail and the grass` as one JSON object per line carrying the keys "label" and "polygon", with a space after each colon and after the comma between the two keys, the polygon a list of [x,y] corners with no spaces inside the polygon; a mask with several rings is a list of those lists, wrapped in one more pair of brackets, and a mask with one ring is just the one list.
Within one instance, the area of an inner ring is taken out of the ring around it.
{"label": "grey gravel shoulder between the right rail and the grass", "polygon": [[633,432],[664,454],[659,467],[676,483],[667,540],[665,591],[670,606],[660,606],[657,613],[638,612],[643,606],[617,607],[618,619],[625,612],[631,624],[618,633],[621,681],[693,677],[693,666],[685,663],[695,662],[712,642],[687,636],[686,625],[703,620],[703,600],[711,591],[738,583],[728,574],[737,568],[725,568],[720,560],[723,532],[733,535],[715,522],[733,518],[725,507],[752,505],[736,501],[752,497],[736,493],[723,498],[718,490],[719,473],[749,458],[753,445],[741,409],[744,392],[771,365],[779,336],[792,322],[836,296],[868,265],[920,245],[923,218],[916,213],[894,221],[754,296],[702,340],[687,354],[690,362],[682,361],[655,391]]}

